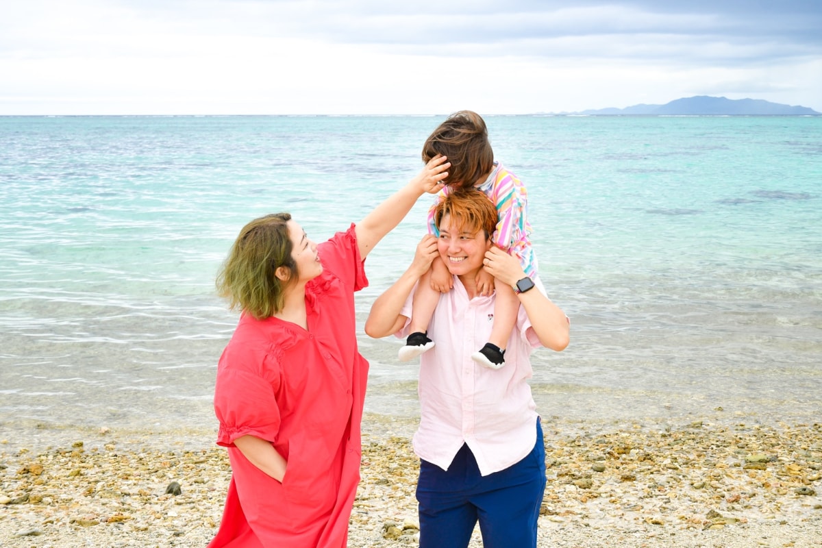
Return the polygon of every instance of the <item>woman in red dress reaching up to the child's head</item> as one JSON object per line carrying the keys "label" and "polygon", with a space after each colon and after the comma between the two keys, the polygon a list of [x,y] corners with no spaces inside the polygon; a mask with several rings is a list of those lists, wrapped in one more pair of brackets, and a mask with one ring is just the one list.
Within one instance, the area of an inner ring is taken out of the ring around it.
{"label": "woman in red dress reaching up to the child's head", "polygon": [[360,466],[368,362],[353,293],[369,251],[450,163],[432,159],[359,223],[319,245],[287,213],[248,223],[217,286],[242,311],[219,358],[217,443],[232,476],[209,548],[344,548]]}

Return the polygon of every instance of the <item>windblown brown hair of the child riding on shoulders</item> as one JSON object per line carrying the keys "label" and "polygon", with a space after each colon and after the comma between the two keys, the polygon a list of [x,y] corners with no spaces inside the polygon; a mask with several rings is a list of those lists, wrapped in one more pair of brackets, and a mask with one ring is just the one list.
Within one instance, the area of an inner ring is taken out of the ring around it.
{"label": "windblown brown hair of the child riding on shoulders", "polygon": [[478,113],[460,110],[442,122],[423,145],[423,162],[443,154],[451,163],[443,182],[469,188],[494,168],[494,151],[485,121]]}

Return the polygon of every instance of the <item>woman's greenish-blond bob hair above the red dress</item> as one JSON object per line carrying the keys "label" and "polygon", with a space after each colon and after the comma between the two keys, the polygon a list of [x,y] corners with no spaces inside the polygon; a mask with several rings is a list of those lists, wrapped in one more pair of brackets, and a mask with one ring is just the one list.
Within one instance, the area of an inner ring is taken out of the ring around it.
{"label": "woman's greenish-blond bob hair above the red dress", "polygon": [[[284,288],[298,274],[291,256],[290,219],[289,213],[276,213],[242,227],[216,281],[219,296],[229,299],[232,310],[265,320],[283,309]],[[289,270],[284,281],[275,274],[280,266]]]}

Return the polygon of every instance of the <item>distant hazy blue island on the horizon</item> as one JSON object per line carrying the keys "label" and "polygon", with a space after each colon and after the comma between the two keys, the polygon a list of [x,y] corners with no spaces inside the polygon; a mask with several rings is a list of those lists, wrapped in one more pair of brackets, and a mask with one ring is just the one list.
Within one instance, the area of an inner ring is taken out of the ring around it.
{"label": "distant hazy blue island on the horizon", "polygon": [[762,99],[727,99],[696,95],[676,99],[667,104],[635,104],[626,108],[599,108],[579,113],[596,116],[621,116],[644,114],[651,116],[822,116],[813,108],[793,107],[771,103]]}

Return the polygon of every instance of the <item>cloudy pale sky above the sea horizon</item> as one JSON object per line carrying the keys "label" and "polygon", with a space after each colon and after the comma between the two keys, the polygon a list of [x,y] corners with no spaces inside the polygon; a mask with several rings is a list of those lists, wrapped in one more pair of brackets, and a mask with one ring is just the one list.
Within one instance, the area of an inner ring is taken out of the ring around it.
{"label": "cloudy pale sky above the sea horizon", "polygon": [[0,115],[822,112],[819,0],[0,2]]}

